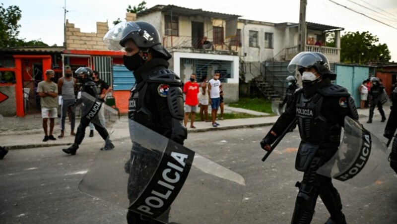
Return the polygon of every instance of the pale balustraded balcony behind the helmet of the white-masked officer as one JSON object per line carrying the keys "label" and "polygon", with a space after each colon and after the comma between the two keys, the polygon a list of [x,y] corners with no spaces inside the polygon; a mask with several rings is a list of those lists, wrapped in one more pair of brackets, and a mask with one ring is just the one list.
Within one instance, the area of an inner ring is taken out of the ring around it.
{"label": "pale balustraded balcony behind the helmet of the white-masked officer", "polygon": [[[340,62],[340,48],[331,48],[316,45],[306,45],[306,52],[320,52],[327,56],[330,62]],[[298,46],[285,48],[285,60],[291,60],[298,54]]]}

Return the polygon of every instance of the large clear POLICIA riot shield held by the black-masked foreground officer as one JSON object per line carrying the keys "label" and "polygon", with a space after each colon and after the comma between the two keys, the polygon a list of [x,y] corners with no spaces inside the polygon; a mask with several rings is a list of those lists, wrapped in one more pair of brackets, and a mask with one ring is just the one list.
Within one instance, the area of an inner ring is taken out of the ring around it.
{"label": "large clear POLICIA riot shield held by the black-masked foreground officer", "polygon": [[125,138],[113,141],[111,154],[100,152],[81,192],[162,223],[232,221],[245,187],[241,175],[137,122],[129,128],[132,144]]}

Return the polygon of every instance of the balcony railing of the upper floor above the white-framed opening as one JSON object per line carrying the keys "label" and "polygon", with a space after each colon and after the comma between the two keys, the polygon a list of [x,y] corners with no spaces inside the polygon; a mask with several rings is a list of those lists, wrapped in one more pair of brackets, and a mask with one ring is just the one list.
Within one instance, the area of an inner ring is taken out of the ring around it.
{"label": "balcony railing of the upper floor above the white-framed opening", "polygon": [[212,39],[207,39],[207,42],[203,44],[201,38],[192,38],[191,36],[163,37],[163,46],[165,48],[230,52],[237,52],[239,50],[239,45],[235,40],[226,39],[221,43],[214,43]]}

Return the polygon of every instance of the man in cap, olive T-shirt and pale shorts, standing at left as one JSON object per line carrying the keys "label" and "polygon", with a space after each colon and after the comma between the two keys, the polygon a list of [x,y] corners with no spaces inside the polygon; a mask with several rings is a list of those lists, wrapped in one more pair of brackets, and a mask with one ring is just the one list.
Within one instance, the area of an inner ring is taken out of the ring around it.
{"label": "man in cap, olive T-shirt and pale shorts, standing at left", "polygon": [[[55,72],[48,69],[46,70],[46,79],[39,82],[37,86],[45,134],[43,142],[57,140],[53,135],[55,118],[58,117],[58,86],[53,82],[54,78]],[[48,118],[50,118],[50,132],[48,132]]]}

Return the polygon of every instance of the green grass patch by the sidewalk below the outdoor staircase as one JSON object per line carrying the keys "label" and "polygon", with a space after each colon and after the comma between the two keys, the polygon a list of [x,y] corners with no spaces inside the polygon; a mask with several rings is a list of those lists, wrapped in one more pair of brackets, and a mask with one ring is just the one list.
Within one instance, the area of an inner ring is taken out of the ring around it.
{"label": "green grass patch by the sidewalk below the outdoor staircase", "polygon": [[244,108],[252,111],[272,113],[271,102],[263,98],[240,97],[239,102],[229,104],[229,107]]}

